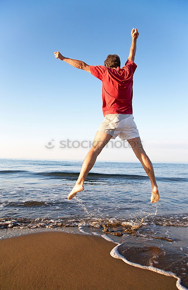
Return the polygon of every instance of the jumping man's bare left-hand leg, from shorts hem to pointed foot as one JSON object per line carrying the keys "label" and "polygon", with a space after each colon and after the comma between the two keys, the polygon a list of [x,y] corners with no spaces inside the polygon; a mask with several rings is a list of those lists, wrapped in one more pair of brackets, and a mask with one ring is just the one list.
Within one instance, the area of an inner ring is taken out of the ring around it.
{"label": "jumping man's bare left-hand leg, from shorts hem to pointed foot", "polygon": [[111,138],[112,138],[111,135],[97,131],[93,141],[93,146],[89,150],[82,164],[82,169],[80,171],[78,180],[73,189],[71,190],[71,192],[69,193],[68,196],[69,200],[71,200],[76,195],[77,192],[84,190],[84,181],[86,179],[86,176],[88,175],[89,171],[95,164],[97,156]]}

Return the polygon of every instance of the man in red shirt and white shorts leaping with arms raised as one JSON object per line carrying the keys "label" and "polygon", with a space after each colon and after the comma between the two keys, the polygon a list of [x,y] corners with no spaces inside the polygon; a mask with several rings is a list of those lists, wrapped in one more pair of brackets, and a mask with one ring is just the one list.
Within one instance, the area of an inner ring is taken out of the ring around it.
{"label": "man in red shirt and white shorts leaping with arms raised", "polygon": [[111,138],[115,139],[117,136],[121,138],[121,141],[127,140],[129,142],[150,178],[152,187],[151,202],[158,202],[159,200],[153,166],[143,150],[139,132],[132,116],[133,74],[137,68],[137,65],[134,63],[134,57],[139,36],[137,28],[132,29],[131,36],[130,54],[125,66],[122,68],[120,68],[120,58],[118,55],[108,55],[104,61],[104,66],[89,66],[83,61],[69,59],[62,56],[60,52],[54,52],[56,58],[66,61],[75,68],[86,70],[102,81],[102,108],[105,118],[95,135],[92,148],[84,159],[78,180],[68,196],[69,200],[77,192],[84,190],[84,181],[95,164],[97,156],[108,141]]}

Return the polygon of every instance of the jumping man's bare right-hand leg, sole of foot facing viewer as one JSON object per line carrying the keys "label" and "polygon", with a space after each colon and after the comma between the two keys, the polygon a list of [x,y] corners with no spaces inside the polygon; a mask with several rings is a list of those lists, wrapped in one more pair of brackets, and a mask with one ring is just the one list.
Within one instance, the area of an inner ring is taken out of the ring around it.
{"label": "jumping man's bare right-hand leg, sole of foot facing viewer", "polygon": [[158,202],[159,193],[153,170],[153,165],[142,147],[140,137],[129,139],[127,141],[129,142],[130,146],[132,147],[132,150],[134,151],[137,158],[140,160],[145,172],[148,174],[148,177],[150,178],[152,186],[151,202]]}

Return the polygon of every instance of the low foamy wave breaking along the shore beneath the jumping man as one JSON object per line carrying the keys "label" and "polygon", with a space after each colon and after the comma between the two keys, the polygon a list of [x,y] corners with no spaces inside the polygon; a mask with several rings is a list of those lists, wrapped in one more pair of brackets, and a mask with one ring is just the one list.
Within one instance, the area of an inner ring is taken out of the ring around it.
{"label": "low foamy wave breaking along the shore beneath the jumping man", "polygon": [[[29,202],[29,206],[32,202]],[[98,229],[103,229],[104,232],[114,231],[114,232],[125,232],[130,233],[131,231],[136,231],[144,224],[155,224],[159,226],[188,226],[188,217],[186,215],[172,215],[172,216],[155,216],[150,215],[143,218],[135,219],[116,219],[116,218],[80,218],[71,217],[69,218],[59,218],[58,220],[50,218],[12,218],[5,217],[0,218],[0,229],[5,228],[21,228],[21,229],[33,229],[33,228],[56,228],[64,226],[89,226]]]}

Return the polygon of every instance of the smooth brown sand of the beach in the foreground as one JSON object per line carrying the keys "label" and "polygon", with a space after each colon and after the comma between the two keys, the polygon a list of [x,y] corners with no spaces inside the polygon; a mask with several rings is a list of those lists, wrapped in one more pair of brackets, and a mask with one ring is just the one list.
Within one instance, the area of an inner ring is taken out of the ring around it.
{"label": "smooth brown sand of the beach in the foreground", "polygon": [[101,237],[34,233],[0,240],[0,289],[177,290],[176,279],[110,256]]}

